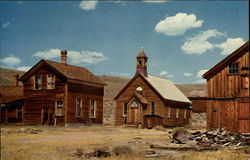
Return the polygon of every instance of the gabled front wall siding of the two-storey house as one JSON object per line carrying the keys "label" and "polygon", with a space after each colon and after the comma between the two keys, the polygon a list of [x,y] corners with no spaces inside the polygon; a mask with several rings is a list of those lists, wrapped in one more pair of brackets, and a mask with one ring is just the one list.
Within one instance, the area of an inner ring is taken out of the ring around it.
{"label": "gabled front wall siding of the two-storey house", "polygon": [[[47,89],[47,74],[53,73],[47,68],[42,68],[35,74],[42,75],[42,89],[34,90],[34,76],[23,82],[25,105],[23,109],[23,122],[30,124],[42,123],[42,108],[55,108],[56,95],[65,94],[65,81],[56,75],[55,89]],[[60,99],[65,101],[65,98]],[[66,107],[66,106],[64,106]],[[64,116],[57,117],[57,124],[64,124]]]}

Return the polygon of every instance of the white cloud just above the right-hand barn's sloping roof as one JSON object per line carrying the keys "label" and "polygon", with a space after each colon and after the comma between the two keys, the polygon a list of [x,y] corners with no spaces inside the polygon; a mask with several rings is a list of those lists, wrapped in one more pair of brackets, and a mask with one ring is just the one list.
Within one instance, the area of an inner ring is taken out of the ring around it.
{"label": "white cloud just above the right-hand barn's sloping roof", "polygon": [[216,47],[222,49],[221,55],[228,55],[238,49],[241,45],[243,45],[245,42],[244,40],[239,38],[228,38],[226,42],[223,42],[221,44],[216,45]]}

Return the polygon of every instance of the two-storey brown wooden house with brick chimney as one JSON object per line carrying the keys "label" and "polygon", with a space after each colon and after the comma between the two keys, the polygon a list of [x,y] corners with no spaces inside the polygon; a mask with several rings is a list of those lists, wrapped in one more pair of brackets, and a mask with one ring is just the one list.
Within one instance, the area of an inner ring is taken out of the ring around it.
{"label": "two-storey brown wooden house with brick chimney", "polygon": [[24,87],[23,123],[102,123],[105,83],[87,69],[41,60],[20,80]]}

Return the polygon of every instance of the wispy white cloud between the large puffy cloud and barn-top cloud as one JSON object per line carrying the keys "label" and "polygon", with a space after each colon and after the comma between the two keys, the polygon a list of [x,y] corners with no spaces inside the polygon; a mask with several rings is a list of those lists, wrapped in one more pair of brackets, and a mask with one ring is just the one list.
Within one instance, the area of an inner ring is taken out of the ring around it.
{"label": "wispy white cloud between the large puffy cloud and barn-top cloud", "polygon": [[190,37],[182,46],[181,49],[186,54],[202,54],[207,50],[213,49],[216,45],[208,42],[208,39],[211,37],[219,37],[224,35],[223,33],[217,31],[216,29],[210,29],[199,34],[194,37]]}

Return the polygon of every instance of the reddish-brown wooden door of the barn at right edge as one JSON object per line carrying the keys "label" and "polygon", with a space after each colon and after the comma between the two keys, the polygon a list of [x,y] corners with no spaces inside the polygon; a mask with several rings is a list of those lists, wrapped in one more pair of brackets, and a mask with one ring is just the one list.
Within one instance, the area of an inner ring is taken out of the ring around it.
{"label": "reddish-brown wooden door of the barn at right edge", "polygon": [[250,101],[239,102],[239,132],[250,133]]}

